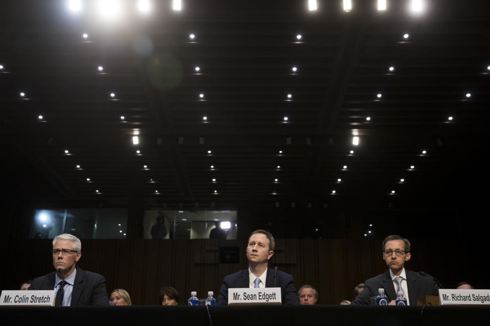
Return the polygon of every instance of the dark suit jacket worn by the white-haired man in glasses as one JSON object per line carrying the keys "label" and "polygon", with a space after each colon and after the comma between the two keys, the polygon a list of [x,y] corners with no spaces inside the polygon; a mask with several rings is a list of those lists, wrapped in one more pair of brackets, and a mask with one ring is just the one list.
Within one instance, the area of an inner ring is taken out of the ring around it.
{"label": "dark suit jacket worn by the white-haired man in glasses", "polygon": [[[106,279],[99,274],[77,268],[77,275],[71,292],[70,306],[108,306]],[[29,290],[53,290],[55,272],[35,278]]]}

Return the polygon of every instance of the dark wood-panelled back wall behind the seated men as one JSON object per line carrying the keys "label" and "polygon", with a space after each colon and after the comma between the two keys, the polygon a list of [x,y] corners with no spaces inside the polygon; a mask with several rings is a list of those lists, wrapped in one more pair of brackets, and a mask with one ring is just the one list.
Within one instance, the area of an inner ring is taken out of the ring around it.
{"label": "dark wood-panelled back wall behind the seated men", "polygon": [[[15,199],[5,203],[0,240],[6,262],[0,271],[2,289],[15,289],[21,281],[53,270],[51,240],[29,239],[37,204],[23,204]],[[209,290],[217,293],[224,276],[246,268],[248,234],[264,228],[277,238],[269,266],[277,265],[292,274],[297,288],[303,284],[314,286],[320,293],[319,303],[337,304],[352,300],[358,283],[386,270],[381,242],[384,236],[398,233],[412,242],[408,269],[423,270],[448,288],[460,281],[490,288],[486,278],[490,272],[485,258],[486,219],[480,218],[479,209],[300,205],[291,208],[286,203],[276,207],[275,202],[238,204],[237,240],[144,240],[141,237],[146,206],[136,200],[129,205],[128,238],[83,239],[79,265],[104,275],[108,291],[127,289],[136,305],[157,304],[159,288],[167,285],[178,289],[182,304],[192,290],[198,291],[200,297]],[[229,204],[225,206],[230,208]],[[369,223],[374,225],[373,233],[364,237]],[[233,246],[238,247],[239,262],[220,263],[220,247]]]}

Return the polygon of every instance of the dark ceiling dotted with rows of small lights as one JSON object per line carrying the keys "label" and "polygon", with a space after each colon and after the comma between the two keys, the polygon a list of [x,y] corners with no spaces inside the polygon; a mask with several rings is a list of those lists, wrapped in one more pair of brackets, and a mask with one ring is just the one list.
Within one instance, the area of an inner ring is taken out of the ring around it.
{"label": "dark ceiling dotted with rows of small lights", "polygon": [[375,0],[350,12],[340,0],[314,12],[306,0],[153,1],[149,15],[126,1],[113,21],[94,1],[66,3],[0,3],[0,149],[15,194],[349,203],[488,181],[487,0],[426,0],[422,14],[409,0],[385,12]]}

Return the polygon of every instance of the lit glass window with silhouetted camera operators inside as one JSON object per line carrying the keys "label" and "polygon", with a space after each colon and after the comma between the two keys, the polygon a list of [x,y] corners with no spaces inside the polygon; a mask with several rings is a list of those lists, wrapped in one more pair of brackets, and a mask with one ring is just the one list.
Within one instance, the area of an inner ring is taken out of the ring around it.
{"label": "lit glass window with silhouetted camera operators inside", "polygon": [[145,239],[236,239],[236,210],[160,210],[144,212]]}

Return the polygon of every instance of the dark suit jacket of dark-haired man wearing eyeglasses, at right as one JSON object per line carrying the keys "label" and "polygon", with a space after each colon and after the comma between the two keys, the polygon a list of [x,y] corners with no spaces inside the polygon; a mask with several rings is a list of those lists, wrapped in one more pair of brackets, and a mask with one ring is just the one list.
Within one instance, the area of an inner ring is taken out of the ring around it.
{"label": "dark suit jacket of dark-haired man wearing eyeglasses, at right", "polygon": [[[416,306],[417,300],[425,295],[438,295],[439,287],[434,279],[428,276],[422,276],[419,273],[405,269],[407,275],[407,290],[410,306]],[[377,296],[378,289],[383,288],[388,297],[388,303],[391,300],[397,300],[395,285],[389,275],[389,269],[385,273],[375,276],[364,282],[364,290],[357,296],[351,305],[369,305],[370,296]]]}

